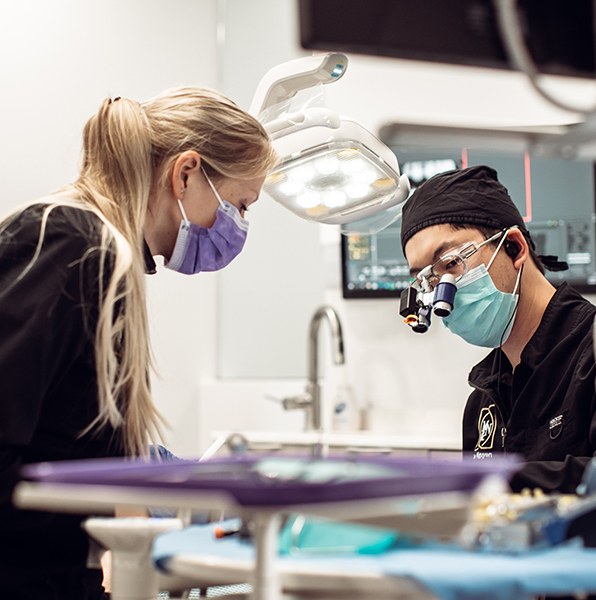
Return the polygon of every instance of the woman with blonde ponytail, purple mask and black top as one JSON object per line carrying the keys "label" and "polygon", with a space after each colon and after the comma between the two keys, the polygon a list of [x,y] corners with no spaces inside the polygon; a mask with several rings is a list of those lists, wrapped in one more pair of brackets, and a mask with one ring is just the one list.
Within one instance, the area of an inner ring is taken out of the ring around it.
{"label": "woman with blonde ponytail, purple mask and black top", "polygon": [[79,178],[0,224],[0,597],[103,597],[81,517],[12,506],[19,469],[159,440],[145,274],[158,255],[225,267],[274,162],[261,124],[216,92],[105,100]]}

